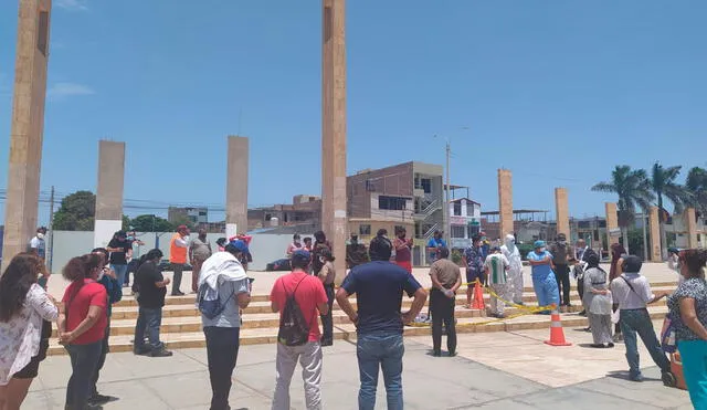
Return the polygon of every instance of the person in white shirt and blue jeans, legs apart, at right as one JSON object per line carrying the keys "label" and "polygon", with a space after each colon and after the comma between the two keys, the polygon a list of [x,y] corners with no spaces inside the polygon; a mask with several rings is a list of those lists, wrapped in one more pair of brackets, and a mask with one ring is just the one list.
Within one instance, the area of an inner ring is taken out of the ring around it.
{"label": "person in white shirt and blue jeans, legs apart, at right", "polygon": [[614,303],[619,304],[621,317],[621,333],[626,345],[626,360],[629,361],[629,378],[633,381],[643,381],[639,364],[639,345],[636,334],[651,354],[653,361],[663,372],[663,382],[671,378],[671,361],[661,348],[661,343],[655,335],[647,304],[654,303],[665,296],[663,292],[654,295],[651,284],[641,275],[641,259],[635,255],[623,257],[623,274],[611,282],[611,294]]}

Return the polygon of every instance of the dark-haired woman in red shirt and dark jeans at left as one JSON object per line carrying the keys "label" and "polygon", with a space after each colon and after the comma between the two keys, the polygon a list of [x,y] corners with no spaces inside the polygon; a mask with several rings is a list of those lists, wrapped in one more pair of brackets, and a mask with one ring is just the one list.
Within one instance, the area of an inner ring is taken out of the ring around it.
{"label": "dark-haired woman in red shirt and dark jeans at left", "polygon": [[72,375],[66,385],[66,408],[84,409],[91,393],[93,374],[98,366],[107,325],[106,288],[96,282],[102,257],[87,254],[74,257],[62,274],[66,287],[59,315],[59,339],[71,356]]}

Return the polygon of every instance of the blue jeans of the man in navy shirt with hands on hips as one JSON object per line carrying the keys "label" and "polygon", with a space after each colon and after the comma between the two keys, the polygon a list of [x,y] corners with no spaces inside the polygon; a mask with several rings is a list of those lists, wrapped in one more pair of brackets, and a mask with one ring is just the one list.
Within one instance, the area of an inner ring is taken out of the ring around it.
{"label": "blue jeans of the man in navy shirt with hands on hips", "polygon": [[358,370],[361,389],[358,392],[359,410],[373,410],[378,369],[383,370],[388,395],[388,409],[402,409],[402,355],[405,347],[400,333],[373,333],[359,335],[357,343]]}

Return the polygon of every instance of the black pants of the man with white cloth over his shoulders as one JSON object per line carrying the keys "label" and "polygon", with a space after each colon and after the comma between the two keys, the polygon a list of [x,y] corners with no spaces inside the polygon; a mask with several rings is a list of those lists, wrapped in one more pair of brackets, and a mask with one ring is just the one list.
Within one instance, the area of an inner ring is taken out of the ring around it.
{"label": "black pants of the man with white cloth over his shoulders", "polygon": [[240,327],[207,326],[207,357],[209,360],[209,378],[211,379],[210,410],[226,410],[231,392],[231,377],[239,357]]}

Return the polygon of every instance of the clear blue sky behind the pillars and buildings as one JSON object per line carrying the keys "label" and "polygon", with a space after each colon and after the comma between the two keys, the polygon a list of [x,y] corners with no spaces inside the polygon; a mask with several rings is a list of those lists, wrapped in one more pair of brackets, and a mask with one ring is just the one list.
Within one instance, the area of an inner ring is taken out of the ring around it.
{"label": "clear blue sky behind the pillars and buildings", "polygon": [[[0,158],[17,3],[0,2]],[[54,0],[42,190],[95,191],[110,138],[127,143],[125,198],[222,204],[225,136],[240,133],[251,206],[318,193],[319,8]],[[485,209],[503,166],[517,208],[552,210],[564,186],[581,217],[613,199],[590,187],[616,164],[706,165],[705,2],[349,0],[347,13],[349,172],[444,164],[439,134],[453,182]],[[4,189],[6,160],[0,176]]]}

